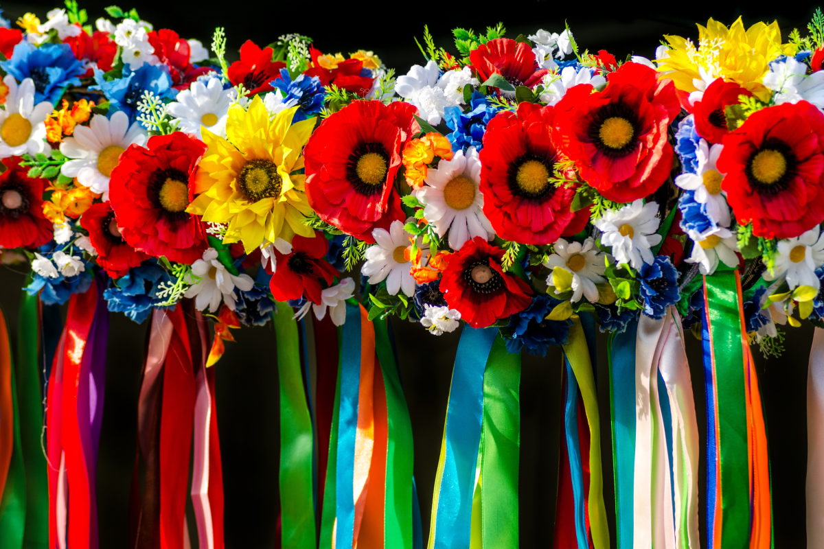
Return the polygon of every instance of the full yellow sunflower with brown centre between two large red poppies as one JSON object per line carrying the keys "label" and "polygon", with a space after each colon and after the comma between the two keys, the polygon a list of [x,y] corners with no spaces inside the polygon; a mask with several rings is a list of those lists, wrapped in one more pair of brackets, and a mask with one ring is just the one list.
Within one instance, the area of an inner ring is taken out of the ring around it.
{"label": "full yellow sunflower with brown centre between two large red poppies", "polygon": [[315,119],[293,124],[296,110],[284,109],[270,121],[255,96],[248,110],[229,109],[226,139],[201,129],[208,151],[195,177],[199,196],[186,212],[228,223],[223,242],[241,241],[247,254],[264,240],[315,235],[303,224],[311,213],[303,191],[306,176],[295,173],[303,168],[303,146]]}

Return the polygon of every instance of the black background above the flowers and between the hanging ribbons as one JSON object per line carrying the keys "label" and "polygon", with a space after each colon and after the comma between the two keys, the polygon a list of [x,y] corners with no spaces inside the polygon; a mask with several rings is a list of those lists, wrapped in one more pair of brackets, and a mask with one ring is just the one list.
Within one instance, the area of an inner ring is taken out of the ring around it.
{"label": "black background above the flowers and between the hanging ribbons", "polygon": [[[105,16],[110,0],[81,2],[91,22]],[[405,74],[410,65],[423,63],[412,40],[423,35],[428,24],[435,42],[453,53],[450,30],[455,26],[482,30],[503,21],[507,35],[533,34],[543,28],[560,32],[564,19],[582,49],[607,49],[616,58],[627,54],[652,57],[664,34],[697,38],[695,22],[705,24],[713,16],[725,24],[739,15],[745,25],[756,21],[780,23],[784,37],[794,27],[803,29],[813,6],[781,2],[756,7],[756,3],[716,2],[711,7],[677,2],[673,7],[643,3],[611,2],[143,2],[140,16],[156,29],[171,28],[185,38],[211,44],[214,26],[225,26],[227,57],[250,39],[264,45],[279,35],[309,35],[327,53],[348,54],[372,49],[387,67]],[[3,3],[5,16],[13,21],[24,12],[35,12],[45,21],[50,2]],[[746,11],[744,7],[747,7]],[[780,9],[785,7],[785,12]],[[756,19],[756,16],[759,18]],[[423,41],[423,40],[421,40]],[[7,314],[14,337],[21,268],[0,269],[0,305]],[[417,324],[393,322],[396,329],[400,370],[414,432],[414,475],[428,536],[429,513],[443,417],[460,333],[433,337]],[[128,531],[129,483],[132,472],[138,384],[147,323],[138,325],[122,314],[111,315],[105,407],[98,472],[101,547],[125,547]],[[271,325],[235,330],[236,343],[227,343],[227,354],[216,365],[218,426],[221,439],[226,497],[227,547],[274,547],[279,509],[278,374]],[[765,361],[755,350],[763,392],[770,444],[776,547],[805,546],[804,480],[807,458],[806,379],[812,327],[788,328],[786,351],[779,359]],[[695,409],[705,440],[704,374],[700,342],[687,334]],[[13,340],[12,340],[13,341]],[[524,354],[521,384],[520,523],[522,547],[551,547],[555,519],[555,486],[558,468],[560,421],[559,351],[545,358]],[[609,390],[606,384],[606,337],[598,334],[597,379],[602,417],[604,497],[615,547],[615,511],[612,482]],[[747,463],[742,463],[747,467]],[[705,461],[701,455],[700,478]],[[702,545],[704,533],[704,486],[700,486]],[[189,517],[196,547],[194,517]]]}

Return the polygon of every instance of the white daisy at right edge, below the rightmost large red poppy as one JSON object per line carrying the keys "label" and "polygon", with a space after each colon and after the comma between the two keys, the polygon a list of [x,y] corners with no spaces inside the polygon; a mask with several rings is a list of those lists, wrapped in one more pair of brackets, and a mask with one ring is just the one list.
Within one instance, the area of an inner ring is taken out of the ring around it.
{"label": "white daisy at right edge, below the rightmost large red poppy", "polygon": [[816,276],[816,269],[824,265],[824,235],[820,231],[821,228],[815,226],[801,236],[779,240],[775,268],[764,272],[764,280],[784,277],[790,290],[798,286],[812,286],[818,290],[821,281]]}

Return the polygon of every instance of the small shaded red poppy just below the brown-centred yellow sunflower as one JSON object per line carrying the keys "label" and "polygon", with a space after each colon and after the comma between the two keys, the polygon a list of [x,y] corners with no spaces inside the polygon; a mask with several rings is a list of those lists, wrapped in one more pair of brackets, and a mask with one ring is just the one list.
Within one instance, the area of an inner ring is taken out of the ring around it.
{"label": "small shaded red poppy just below the brown-centred yellow sunflower", "polygon": [[316,305],[321,305],[321,281],[332,286],[339,272],[323,256],[327,243],[322,233],[315,232],[315,238],[297,235],[292,240],[292,254],[281,254],[274,250],[275,268],[269,281],[269,288],[275,301],[299,300],[307,296]]}

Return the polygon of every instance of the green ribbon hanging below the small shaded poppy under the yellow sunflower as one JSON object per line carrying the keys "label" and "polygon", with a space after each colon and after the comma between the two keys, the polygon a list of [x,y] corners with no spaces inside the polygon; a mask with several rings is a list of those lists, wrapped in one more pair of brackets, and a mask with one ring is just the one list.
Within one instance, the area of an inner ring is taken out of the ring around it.
{"label": "green ribbon hanging below the small shaded poppy under the yellow sunflower", "polygon": [[[301,374],[300,337],[293,310],[279,302],[272,315],[280,385],[280,514],[283,547],[314,549],[312,491],[314,435]],[[326,499],[326,498],[325,498]]]}

